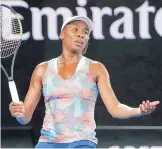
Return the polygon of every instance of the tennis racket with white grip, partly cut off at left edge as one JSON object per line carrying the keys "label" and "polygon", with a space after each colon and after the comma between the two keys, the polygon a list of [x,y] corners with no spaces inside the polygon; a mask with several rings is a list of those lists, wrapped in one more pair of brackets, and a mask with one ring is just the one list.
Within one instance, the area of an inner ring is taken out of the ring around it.
{"label": "tennis racket with white grip, partly cut off at left edge", "polygon": [[[19,96],[13,79],[14,64],[17,51],[22,41],[22,24],[13,8],[5,4],[0,5],[0,57],[1,69],[8,79],[9,90],[11,93],[12,101],[19,102]],[[2,65],[6,59],[11,59],[10,75],[7,68]]]}

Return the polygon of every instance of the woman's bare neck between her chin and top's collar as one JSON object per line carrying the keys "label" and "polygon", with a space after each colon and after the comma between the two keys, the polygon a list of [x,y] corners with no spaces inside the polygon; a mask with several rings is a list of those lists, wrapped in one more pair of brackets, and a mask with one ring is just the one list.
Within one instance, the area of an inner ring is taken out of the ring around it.
{"label": "woman's bare neck between her chin and top's collar", "polygon": [[74,54],[70,51],[63,50],[62,54],[59,56],[59,62],[61,63],[78,63],[82,57],[82,54]]}

